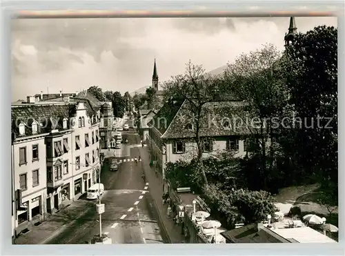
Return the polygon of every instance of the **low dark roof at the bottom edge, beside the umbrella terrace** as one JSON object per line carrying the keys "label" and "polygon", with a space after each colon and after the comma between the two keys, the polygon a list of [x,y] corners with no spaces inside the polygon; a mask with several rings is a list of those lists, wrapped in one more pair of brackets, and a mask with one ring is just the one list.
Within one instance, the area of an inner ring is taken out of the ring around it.
{"label": "low dark roof at the bottom edge, beside the umbrella terrace", "polygon": [[290,243],[288,239],[276,235],[264,226],[258,229],[257,225],[258,224],[248,224],[240,228],[222,232],[221,235],[225,237],[230,243],[236,244]]}

